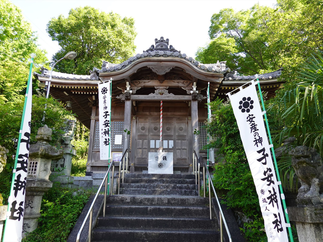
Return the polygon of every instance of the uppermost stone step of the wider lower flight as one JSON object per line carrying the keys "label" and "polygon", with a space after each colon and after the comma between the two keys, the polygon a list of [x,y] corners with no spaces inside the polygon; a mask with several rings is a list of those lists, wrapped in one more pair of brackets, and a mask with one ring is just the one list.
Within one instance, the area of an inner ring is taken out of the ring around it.
{"label": "uppermost stone step of the wider lower flight", "polygon": [[112,195],[107,197],[110,205],[134,206],[209,206],[209,199],[199,196],[170,195]]}

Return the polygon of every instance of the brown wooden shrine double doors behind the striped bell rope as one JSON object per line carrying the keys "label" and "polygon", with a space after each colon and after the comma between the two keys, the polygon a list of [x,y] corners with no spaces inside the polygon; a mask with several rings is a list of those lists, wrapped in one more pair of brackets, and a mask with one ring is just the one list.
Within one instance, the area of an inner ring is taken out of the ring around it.
{"label": "brown wooden shrine double doors behind the striped bell rope", "polygon": [[[174,167],[188,166],[187,134],[187,117],[163,117],[163,151],[173,153]],[[135,140],[135,163],[137,166],[148,166],[148,152],[158,152],[159,141],[160,118],[137,117]]]}

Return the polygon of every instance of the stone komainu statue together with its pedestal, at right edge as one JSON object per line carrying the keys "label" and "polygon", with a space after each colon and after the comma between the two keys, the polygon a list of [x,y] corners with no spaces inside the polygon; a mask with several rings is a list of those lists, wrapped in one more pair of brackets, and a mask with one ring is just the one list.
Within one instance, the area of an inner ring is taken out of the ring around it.
{"label": "stone komainu statue together with its pedestal, at right edge", "polygon": [[299,242],[323,241],[323,169],[322,158],[313,148],[297,146],[288,152],[301,183],[297,207],[289,207],[288,216],[296,222]]}

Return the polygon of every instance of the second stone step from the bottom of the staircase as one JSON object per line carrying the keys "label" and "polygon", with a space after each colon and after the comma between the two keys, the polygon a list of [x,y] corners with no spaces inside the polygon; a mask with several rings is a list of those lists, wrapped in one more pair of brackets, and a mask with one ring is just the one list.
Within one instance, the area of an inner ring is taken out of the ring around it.
{"label": "second stone step from the bottom of the staircase", "polygon": [[215,220],[210,218],[160,218],[160,217],[99,217],[97,226],[111,229],[190,229],[206,230],[215,228]]}

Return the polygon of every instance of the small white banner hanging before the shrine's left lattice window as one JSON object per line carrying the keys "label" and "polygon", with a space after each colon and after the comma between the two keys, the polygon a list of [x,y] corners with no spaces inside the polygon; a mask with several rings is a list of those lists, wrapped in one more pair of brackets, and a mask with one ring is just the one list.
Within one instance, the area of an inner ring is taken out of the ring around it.
{"label": "small white banner hanging before the shrine's left lattice window", "polygon": [[111,81],[99,83],[99,134],[100,134],[100,159],[108,160],[111,145]]}

